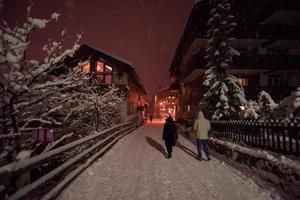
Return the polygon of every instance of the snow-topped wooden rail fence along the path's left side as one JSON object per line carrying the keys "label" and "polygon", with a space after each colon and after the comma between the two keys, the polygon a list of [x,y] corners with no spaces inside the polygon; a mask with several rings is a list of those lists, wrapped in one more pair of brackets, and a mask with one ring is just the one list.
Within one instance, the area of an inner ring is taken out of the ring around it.
{"label": "snow-topped wooden rail fence along the path's left side", "polygon": [[[0,167],[0,199],[40,199],[41,194],[37,197],[37,193],[47,193],[43,199],[53,198],[93,160],[109,149],[118,139],[133,131],[134,128],[134,123],[124,123],[86,136],[38,156]],[[51,160],[53,161],[53,159],[62,156],[63,153],[71,152],[72,150],[76,154],[67,158],[56,168],[51,169],[51,171],[48,171],[22,188],[16,188],[18,177],[39,169],[42,165],[47,165]],[[49,189],[51,189],[51,192],[49,192]]]}

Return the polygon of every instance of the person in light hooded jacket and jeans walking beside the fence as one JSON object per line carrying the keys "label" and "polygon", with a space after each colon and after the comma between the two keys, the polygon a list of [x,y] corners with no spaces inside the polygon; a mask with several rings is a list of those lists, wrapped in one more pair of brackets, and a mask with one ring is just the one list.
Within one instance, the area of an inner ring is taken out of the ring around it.
{"label": "person in light hooded jacket and jeans walking beside the fence", "polygon": [[206,154],[207,160],[210,160],[209,152],[208,152],[208,131],[210,130],[210,123],[207,119],[205,119],[203,112],[199,111],[198,117],[194,122],[194,131],[197,136],[197,150],[198,150],[198,160],[202,160],[201,156],[201,148]]}

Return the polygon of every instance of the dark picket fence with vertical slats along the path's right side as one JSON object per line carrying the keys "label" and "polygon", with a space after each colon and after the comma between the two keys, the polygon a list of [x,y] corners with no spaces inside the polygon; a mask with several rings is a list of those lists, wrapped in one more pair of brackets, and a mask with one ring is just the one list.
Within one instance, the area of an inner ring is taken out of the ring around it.
{"label": "dark picket fence with vertical slats along the path's right side", "polygon": [[300,123],[211,121],[216,138],[225,138],[281,153],[299,155]]}

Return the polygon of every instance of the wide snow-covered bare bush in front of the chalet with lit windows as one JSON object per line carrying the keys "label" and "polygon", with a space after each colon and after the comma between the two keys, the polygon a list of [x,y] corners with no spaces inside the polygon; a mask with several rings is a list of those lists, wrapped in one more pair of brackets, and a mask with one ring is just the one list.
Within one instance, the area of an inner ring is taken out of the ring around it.
{"label": "wide snow-covered bare bush in front of the chalet with lit windows", "polygon": [[[103,86],[97,79],[76,73],[35,90],[37,94],[42,91],[49,93],[42,105],[34,104],[34,108],[28,108],[24,112],[39,110],[35,115],[30,114],[30,119],[24,120],[26,122],[23,123],[23,129],[50,123],[57,127],[68,127],[68,131],[82,134],[87,131],[88,134],[121,122],[119,105],[123,102],[124,95],[117,86]],[[45,119],[35,121],[38,116]]]}

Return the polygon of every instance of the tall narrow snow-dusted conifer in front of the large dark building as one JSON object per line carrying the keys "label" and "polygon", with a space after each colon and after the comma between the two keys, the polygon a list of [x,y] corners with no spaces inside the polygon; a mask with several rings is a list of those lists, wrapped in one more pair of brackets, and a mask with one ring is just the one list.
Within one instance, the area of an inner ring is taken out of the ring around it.
{"label": "tall narrow snow-dusted conifer in front of the large dark building", "polygon": [[206,49],[208,70],[203,85],[208,88],[202,104],[213,111],[213,119],[236,117],[240,106],[246,103],[245,94],[238,79],[228,73],[233,56],[238,51],[229,45],[230,33],[236,26],[228,0],[212,0],[208,21],[208,48]]}

